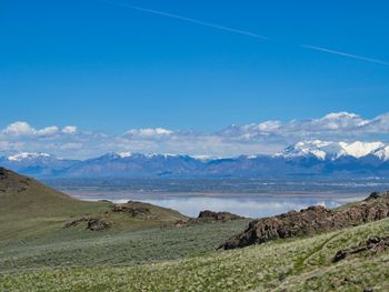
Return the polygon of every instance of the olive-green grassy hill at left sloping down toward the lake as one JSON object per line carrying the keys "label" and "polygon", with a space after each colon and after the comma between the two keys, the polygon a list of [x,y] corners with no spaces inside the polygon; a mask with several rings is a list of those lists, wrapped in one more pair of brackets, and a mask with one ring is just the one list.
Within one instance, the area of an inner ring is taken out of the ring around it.
{"label": "olive-green grassy hill at left sloping down toward the lake", "polygon": [[[0,168],[0,246],[8,240],[41,236],[61,230],[67,222],[82,217],[103,217],[112,223],[112,230],[159,226],[186,219],[170,209],[143,203],[131,205],[147,208],[152,217],[112,212],[109,202],[76,200],[33,179]],[[74,232],[81,228],[76,228]]]}

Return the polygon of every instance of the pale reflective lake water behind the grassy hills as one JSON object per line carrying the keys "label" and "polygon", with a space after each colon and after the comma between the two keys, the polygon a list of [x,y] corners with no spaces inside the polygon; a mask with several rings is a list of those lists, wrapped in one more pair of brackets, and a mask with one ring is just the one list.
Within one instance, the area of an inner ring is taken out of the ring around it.
{"label": "pale reflective lake water behind the grassy hills", "polygon": [[129,200],[147,202],[174,209],[182,214],[197,217],[202,210],[228,211],[249,218],[262,218],[280,214],[291,210],[301,210],[309,205],[337,208],[348,202],[361,200],[366,193],[193,193],[193,192],[131,192],[67,190],[70,195],[82,200],[109,200],[124,203]]}

